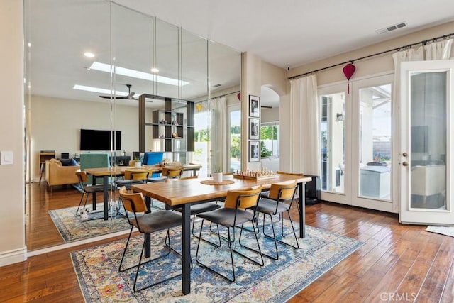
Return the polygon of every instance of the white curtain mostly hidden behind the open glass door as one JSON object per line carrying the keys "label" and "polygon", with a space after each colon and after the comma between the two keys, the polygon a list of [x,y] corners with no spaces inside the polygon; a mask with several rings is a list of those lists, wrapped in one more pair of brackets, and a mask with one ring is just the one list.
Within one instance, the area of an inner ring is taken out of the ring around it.
{"label": "white curtain mostly hidden behind the open glass door", "polygon": [[[399,112],[401,99],[400,99],[400,63],[404,61],[423,61],[423,60],[448,60],[450,58],[450,50],[453,40],[443,40],[436,43],[423,45],[416,50],[402,50],[392,54],[394,60],[394,86],[392,89],[392,100],[394,113]],[[400,133],[397,127],[393,128],[392,136],[396,141],[400,141]],[[399,204],[394,203],[394,211],[399,211]]]}

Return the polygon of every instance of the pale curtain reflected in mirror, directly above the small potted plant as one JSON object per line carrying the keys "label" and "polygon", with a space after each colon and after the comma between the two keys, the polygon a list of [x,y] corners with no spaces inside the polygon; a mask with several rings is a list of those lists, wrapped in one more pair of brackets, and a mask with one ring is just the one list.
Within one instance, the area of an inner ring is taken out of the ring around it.
{"label": "pale curtain reflected in mirror, directly above the small potted plant", "polygon": [[227,167],[227,124],[226,124],[226,98],[216,98],[208,101],[211,109],[210,144],[211,167],[209,172],[214,172],[214,167],[220,166],[223,172]]}

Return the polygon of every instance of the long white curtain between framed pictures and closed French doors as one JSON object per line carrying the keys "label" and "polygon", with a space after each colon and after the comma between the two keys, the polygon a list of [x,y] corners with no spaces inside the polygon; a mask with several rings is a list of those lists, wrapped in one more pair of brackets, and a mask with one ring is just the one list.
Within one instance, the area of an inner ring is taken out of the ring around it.
{"label": "long white curtain between framed pictures and closed French doors", "polygon": [[289,118],[290,171],[319,176],[320,106],[316,75],[290,80]]}

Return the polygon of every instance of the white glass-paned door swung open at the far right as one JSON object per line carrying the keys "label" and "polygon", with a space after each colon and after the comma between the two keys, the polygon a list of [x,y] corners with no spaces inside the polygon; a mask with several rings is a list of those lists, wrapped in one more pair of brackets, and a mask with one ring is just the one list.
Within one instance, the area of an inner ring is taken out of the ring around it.
{"label": "white glass-paned door swung open at the far right", "polygon": [[401,86],[399,221],[454,224],[454,62],[402,62]]}

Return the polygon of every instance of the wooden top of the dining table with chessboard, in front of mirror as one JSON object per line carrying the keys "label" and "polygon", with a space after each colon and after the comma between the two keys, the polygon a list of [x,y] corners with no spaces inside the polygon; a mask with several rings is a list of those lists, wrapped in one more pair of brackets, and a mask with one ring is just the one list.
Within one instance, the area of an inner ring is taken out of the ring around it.
{"label": "wooden top of the dining table with chessboard, in front of mirror", "polygon": [[158,199],[170,206],[201,202],[226,197],[227,191],[232,189],[245,189],[256,185],[262,185],[264,189],[270,188],[272,183],[297,180],[297,182],[310,182],[311,177],[294,175],[277,175],[275,178],[265,180],[245,180],[226,175],[224,179],[235,181],[232,184],[207,185],[201,184],[201,179],[169,179],[164,182],[146,183],[133,185],[135,192],[142,192],[147,197]]}

